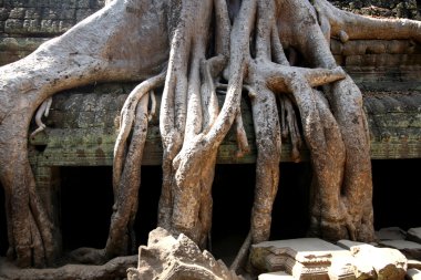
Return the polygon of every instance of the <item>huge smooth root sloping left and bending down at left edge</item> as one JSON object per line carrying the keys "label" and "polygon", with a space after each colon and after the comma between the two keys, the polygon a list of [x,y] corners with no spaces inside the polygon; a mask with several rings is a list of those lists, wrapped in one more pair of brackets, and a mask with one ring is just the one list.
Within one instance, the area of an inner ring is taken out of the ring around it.
{"label": "huge smooth root sloping left and bending down at left edge", "polygon": [[[59,230],[40,203],[28,162],[28,128],[35,110],[59,91],[92,82],[136,81],[165,65],[166,48],[138,48],[167,45],[161,35],[166,32],[164,9],[156,9],[163,3],[142,4],[144,14],[129,12],[127,4],[136,8],[141,3],[115,1],[0,70],[0,156],[10,158],[0,163],[0,179],[9,196],[8,256],[21,267],[52,265],[61,250]],[[141,22],[151,14],[156,24],[142,28]],[[151,31],[156,35],[148,34]],[[131,40],[121,44],[127,32],[133,34]]]}

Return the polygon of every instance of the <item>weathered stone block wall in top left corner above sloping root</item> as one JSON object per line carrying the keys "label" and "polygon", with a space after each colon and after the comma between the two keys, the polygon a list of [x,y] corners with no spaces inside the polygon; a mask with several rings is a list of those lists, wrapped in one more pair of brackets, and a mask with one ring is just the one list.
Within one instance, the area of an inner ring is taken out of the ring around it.
{"label": "weathered stone block wall in top left corner above sloping root", "polygon": [[104,0],[0,0],[0,65],[68,31],[104,6]]}

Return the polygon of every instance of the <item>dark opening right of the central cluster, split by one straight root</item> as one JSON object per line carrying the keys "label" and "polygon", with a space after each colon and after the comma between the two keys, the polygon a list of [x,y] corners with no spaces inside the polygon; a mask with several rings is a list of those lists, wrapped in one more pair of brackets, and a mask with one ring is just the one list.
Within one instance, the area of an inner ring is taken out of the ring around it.
{"label": "dark opening right of the central cluster, split by one straight root", "polygon": [[[304,237],[308,229],[309,163],[280,165],[270,239]],[[214,186],[214,256],[230,263],[250,227],[256,165],[217,165]]]}

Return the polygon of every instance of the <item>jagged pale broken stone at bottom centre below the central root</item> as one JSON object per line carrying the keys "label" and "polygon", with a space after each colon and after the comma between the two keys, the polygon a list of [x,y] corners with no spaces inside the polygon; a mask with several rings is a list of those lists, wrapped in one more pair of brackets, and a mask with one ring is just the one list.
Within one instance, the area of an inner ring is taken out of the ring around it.
{"label": "jagged pale broken stone at bottom centre below the central root", "polygon": [[185,235],[174,238],[163,228],[150,232],[147,247],[138,249],[137,268],[127,270],[129,280],[239,280],[223,261],[215,260],[208,251],[201,251]]}

